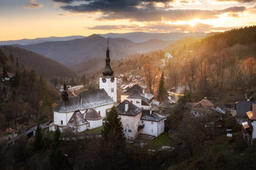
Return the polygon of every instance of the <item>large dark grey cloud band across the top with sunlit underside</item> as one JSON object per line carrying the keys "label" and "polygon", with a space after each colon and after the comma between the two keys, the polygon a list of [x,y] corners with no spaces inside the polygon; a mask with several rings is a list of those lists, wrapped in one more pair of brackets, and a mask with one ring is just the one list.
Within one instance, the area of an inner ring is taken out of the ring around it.
{"label": "large dark grey cloud band across the top with sunlit underside", "polygon": [[[229,7],[222,10],[170,9],[170,7],[159,8],[154,4],[154,2],[168,4],[170,0],[62,0],[61,2],[67,3],[61,6],[61,9],[69,12],[102,12],[98,20],[175,21],[192,18],[204,20],[217,18],[218,15],[226,12],[246,10],[246,7]],[[73,4],[74,2],[76,4]]]}

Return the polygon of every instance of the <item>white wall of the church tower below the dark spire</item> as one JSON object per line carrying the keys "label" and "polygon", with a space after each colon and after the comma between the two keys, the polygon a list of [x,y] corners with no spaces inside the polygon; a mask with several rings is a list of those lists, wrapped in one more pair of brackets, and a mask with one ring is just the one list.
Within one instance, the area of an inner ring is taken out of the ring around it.
{"label": "white wall of the church tower below the dark spire", "polygon": [[[105,79],[106,82],[102,82],[102,77],[99,77],[99,89],[104,88],[104,90],[108,93],[108,96],[110,96],[113,101],[117,102],[116,77],[114,77],[114,82],[110,81],[110,77],[105,77]],[[113,92],[111,91],[111,88],[113,88]]]}

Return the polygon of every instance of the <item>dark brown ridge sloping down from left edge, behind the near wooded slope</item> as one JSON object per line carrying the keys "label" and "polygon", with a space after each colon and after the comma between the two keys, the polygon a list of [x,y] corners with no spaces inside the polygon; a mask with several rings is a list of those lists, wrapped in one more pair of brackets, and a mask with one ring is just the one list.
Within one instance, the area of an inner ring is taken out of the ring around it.
{"label": "dark brown ridge sloping down from left edge, behind the near wooded slope", "polygon": [[69,67],[62,65],[56,61],[53,61],[49,58],[46,58],[37,53],[24,50],[20,47],[12,47],[10,45],[0,46],[1,51],[9,56],[10,53],[14,55],[15,58],[18,58],[20,66],[28,66],[31,69],[34,69],[42,77],[53,79],[53,78],[71,78],[76,77],[77,74],[72,72]]}

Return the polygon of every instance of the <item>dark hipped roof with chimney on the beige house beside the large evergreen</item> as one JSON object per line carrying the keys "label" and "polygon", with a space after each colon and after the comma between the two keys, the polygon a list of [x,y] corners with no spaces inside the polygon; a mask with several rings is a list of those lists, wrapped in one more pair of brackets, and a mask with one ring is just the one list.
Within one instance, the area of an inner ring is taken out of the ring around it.
{"label": "dark hipped roof with chimney on the beige house beside the large evergreen", "polygon": [[[128,103],[128,111],[125,112],[125,104]],[[118,104],[116,107],[119,115],[129,115],[129,116],[135,116],[138,115],[140,112],[142,112],[142,109],[136,107],[131,102],[124,100],[121,102],[121,104]]]}

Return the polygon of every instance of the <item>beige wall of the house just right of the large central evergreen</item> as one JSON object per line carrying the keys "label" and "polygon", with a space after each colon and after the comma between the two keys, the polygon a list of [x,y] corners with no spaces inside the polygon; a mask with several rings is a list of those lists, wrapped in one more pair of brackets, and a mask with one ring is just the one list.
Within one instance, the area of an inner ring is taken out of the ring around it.
{"label": "beige wall of the house just right of the large central evergreen", "polygon": [[128,116],[128,115],[119,115],[121,117],[121,123],[124,128],[124,136],[127,138],[127,125],[129,127],[128,131],[128,139],[134,140],[138,136],[138,125],[140,125],[140,117],[142,113],[140,112],[138,115],[135,116]]}

